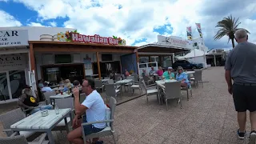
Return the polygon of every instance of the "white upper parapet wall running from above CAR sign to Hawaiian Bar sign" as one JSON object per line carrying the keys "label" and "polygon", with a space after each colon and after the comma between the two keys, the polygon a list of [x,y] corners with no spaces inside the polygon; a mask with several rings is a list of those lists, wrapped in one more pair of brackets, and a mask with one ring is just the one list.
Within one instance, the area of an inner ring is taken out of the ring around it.
{"label": "white upper parapet wall running from above CAR sign to Hawaiian Bar sign", "polygon": [[28,30],[29,41],[39,41],[42,34],[58,34],[65,33],[67,30],[73,31],[76,29],[64,27],[43,27],[43,26],[14,26],[14,27],[0,27],[0,30]]}

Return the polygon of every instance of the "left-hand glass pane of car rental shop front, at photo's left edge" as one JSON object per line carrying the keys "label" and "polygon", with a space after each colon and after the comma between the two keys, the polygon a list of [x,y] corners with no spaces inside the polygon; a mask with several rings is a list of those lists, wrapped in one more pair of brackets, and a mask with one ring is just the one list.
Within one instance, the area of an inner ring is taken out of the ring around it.
{"label": "left-hand glass pane of car rental shop front, at photo's left edge", "polygon": [[10,95],[9,95],[7,73],[3,72],[3,73],[0,73],[0,100],[6,101],[8,99],[10,99]]}

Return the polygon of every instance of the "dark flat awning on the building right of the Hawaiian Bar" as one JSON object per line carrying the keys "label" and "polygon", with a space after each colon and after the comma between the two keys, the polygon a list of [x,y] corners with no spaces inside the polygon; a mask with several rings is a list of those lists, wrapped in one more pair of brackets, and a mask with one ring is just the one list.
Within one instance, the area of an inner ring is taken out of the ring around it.
{"label": "dark flat awning on the building right of the Hawaiian Bar", "polygon": [[175,47],[175,46],[166,46],[160,44],[147,44],[144,46],[138,47],[138,52],[161,52],[161,53],[178,53],[182,51],[188,51],[188,48]]}

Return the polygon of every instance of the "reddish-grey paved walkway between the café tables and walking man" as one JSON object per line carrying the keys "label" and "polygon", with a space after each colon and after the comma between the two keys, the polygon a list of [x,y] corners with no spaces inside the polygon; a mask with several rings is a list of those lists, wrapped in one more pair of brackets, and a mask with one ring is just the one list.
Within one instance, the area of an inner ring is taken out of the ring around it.
{"label": "reddish-grey paved walkway between the caf\u00e9 tables and walking man", "polygon": [[[204,70],[203,81],[203,88],[193,87],[190,101],[182,92],[182,109],[170,101],[166,110],[165,105],[158,105],[156,96],[148,104],[142,96],[117,106],[114,128],[118,144],[247,144],[248,138],[241,141],[236,135],[236,112],[223,67]],[[246,130],[250,131],[249,122]],[[54,137],[57,143],[68,143],[66,132],[54,132]],[[111,138],[102,139],[113,143]]]}

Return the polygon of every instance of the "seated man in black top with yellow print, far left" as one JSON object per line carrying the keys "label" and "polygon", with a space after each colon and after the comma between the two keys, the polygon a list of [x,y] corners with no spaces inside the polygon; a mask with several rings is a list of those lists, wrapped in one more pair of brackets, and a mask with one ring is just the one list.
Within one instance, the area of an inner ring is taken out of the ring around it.
{"label": "seated man in black top with yellow print, far left", "polygon": [[22,90],[22,96],[18,99],[18,106],[26,110],[26,114],[34,114],[39,110],[52,110],[53,106],[51,105],[39,106],[37,98],[34,98],[30,87],[25,86],[25,89]]}

